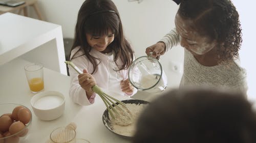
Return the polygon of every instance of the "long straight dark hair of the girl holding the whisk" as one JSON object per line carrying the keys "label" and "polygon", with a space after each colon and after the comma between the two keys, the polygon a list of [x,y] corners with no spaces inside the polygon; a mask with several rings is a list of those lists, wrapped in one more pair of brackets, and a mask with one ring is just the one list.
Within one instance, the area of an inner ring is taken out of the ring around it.
{"label": "long straight dark hair of the girl holding the whisk", "polygon": [[[84,55],[93,64],[93,72],[97,69],[96,60],[101,61],[90,54],[92,47],[86,40],[86,33],[93,35],[107,35],[108,30],[115,34],[114,41],[108,46],[114,52],[114,61],[120,58],[123,65],[120,69],[127,69],[133,61],[133,49],[123,34],[122,23],[119,12],[111,0],[86,0],[79,9],[77,23],[75,27],[75,39],[72,49],[80,46],[79,50],[84,51]],[[72,50],[71,49],[71,50]],[[78,50],[78,51],[79,51]],[[82,56],[82,55],[78,55]],[[70,59],[77,58],[75,54]],[[117,64],[117,63],[116,63]]]}

